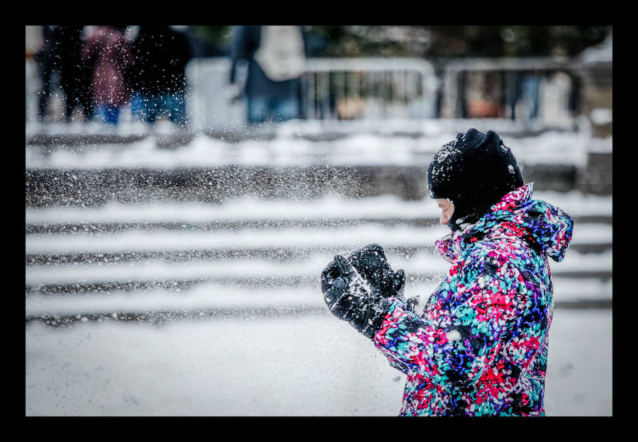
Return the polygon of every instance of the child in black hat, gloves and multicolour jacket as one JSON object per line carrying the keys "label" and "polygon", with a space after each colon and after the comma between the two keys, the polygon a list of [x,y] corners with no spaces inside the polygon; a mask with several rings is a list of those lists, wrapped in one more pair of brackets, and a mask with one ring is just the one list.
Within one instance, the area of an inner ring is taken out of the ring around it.
{"label": "child in black hat, gloves and multicolour jacket", "polygon": [[325,302],[407,375],[401,416],[543,416],[548,257],[564,258],[573,220],[532,200],[493,131],[457,135],[427,181],[452,229],[436,243],[452,267],[423,312],[403,299],[405,275],[380,246],[335,256],[321,276]]}

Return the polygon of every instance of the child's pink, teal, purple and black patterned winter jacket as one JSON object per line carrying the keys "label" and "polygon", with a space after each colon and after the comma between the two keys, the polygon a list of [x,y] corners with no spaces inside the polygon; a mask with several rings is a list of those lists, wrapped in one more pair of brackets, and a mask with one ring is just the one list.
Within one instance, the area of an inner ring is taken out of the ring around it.
{"label": "child's pink, teal, purple and black patterned winter jacket", "polygon": [[391,298],[374,343],[407,375],[401,416],[543,416],[553,289],[573,221],[508,193],[476,224],[437,241],[453,263],[419,317]]}

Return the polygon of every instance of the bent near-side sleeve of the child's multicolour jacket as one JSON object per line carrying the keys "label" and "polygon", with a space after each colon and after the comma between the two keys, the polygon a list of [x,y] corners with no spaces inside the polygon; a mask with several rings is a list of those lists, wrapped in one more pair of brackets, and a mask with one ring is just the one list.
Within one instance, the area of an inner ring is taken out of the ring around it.
{"label": "bent near-side sleeve of the child's multicolour jacket", "polygon": [[456,302],[449,311],[437,302],[436,323],[393,299],[374,343],[404,373],[412,370],[440,385],[471,385],[498,353],[500,335],[516,312],[516,290],[484,262],[455,266],[450,274],[438,293]]}

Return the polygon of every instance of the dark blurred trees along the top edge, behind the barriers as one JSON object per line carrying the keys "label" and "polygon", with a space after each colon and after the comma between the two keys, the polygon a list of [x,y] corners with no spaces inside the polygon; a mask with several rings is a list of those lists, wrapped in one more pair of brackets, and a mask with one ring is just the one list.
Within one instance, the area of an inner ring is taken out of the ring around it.
{"label": "dark blurred trees along the top edge, behind the barriers", "polygon": [[[231,26],[191,26],[203,56],[228,54]],[[573,57],[612,26],[304,26],[310,57]]]}

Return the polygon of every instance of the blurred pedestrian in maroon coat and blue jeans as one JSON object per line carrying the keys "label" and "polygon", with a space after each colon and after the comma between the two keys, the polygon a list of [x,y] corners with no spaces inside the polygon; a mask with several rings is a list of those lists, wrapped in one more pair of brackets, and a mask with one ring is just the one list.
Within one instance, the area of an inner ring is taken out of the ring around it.
{"label": "blurred pedestrian in maroon coat and blue jeans", "polygon": [[107,123],[117,124],[128,103],[126,73],[133,64],[126,26],[96,26],[84,40],[82,60],[93,64],[92,92],[96,112]]}

